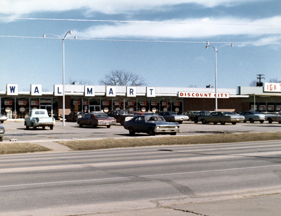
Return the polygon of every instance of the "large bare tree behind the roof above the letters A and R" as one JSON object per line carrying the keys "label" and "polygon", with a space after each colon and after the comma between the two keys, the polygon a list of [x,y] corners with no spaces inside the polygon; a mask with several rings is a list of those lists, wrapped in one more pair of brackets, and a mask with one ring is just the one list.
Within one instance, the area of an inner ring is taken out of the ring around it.
{"label": "large bare tree behind the roof above the letters A and R", "polygon": [[99,80],[100,85],[105,86],[145,86],[145,79],[132,72],[124,70],[112,70],[104,75],[104,79]]}

